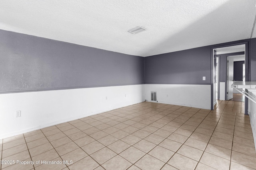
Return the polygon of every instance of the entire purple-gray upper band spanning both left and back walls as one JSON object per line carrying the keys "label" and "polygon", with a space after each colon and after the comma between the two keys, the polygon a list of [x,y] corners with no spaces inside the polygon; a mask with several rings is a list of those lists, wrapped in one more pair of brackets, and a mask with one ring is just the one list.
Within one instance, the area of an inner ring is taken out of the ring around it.
{"label": "entire purple-gray upper band spanning both left and back walls", "polygon": [[210,84],[211,49],[244,42],[248,42],[248,80],[256,81],[256,38],[144,58],[0,30],[0,93],[144,83]]}

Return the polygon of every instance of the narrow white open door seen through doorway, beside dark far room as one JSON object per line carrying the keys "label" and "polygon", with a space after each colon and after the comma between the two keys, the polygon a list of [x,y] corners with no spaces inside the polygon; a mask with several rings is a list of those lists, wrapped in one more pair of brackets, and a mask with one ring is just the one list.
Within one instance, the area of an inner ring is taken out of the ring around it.
{"label": "narrow white open door seen through doorway, beside dark far room", "polygon": [[227,100],[231,100],[233,98],[233,88],[231,85],[234,81],[234,58],[228,57],[227,62]]}

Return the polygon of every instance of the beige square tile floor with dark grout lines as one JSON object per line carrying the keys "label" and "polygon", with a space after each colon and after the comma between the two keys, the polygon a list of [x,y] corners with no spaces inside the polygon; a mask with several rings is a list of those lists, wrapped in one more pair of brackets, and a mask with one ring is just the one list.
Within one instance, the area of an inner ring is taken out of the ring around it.
{"label": "beige square tile floor with dark grout lines", "polygon": [[151,102],[122,107],[0,140],[1,160],[20,161],[1,169],[256,169],[243,110],[234,101],[218,101],[213,111]]}

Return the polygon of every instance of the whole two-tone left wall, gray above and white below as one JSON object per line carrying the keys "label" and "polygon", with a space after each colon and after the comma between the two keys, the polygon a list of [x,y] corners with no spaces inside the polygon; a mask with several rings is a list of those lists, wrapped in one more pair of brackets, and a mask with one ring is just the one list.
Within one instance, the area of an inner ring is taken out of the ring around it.
{"label": "whole two-tone left wall, gray above and white below", "polygon": [[0,30],[0,139],[140,103],[143,92],[143,57]]}

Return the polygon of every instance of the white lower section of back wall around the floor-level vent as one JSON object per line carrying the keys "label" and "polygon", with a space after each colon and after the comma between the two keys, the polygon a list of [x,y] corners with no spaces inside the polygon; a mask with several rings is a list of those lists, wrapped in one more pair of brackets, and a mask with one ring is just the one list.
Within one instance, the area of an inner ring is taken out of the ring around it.
{"label": "white lower section of back wall around the floor-level vent", "polygon": [[151,91],[157,92],[159,103],[211,109],[211,85],[145,84],[145,99],[149,102]]}

